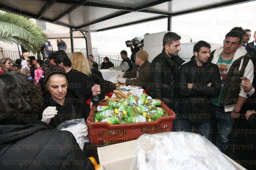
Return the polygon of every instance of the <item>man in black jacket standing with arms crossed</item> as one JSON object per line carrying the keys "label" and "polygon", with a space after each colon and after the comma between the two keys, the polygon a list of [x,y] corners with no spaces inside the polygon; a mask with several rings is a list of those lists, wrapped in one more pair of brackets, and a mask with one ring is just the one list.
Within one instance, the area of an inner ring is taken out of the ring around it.
{"label": "man in black jacket standing with arms crossed", "polygon": [[209,61],[211,46],[199,41],[194,46],[194,56],[183,64],[179,73],[179,112],[181,129],[209,139],[211,126],[212,97],[218,96],[221,88],[219,67]]}

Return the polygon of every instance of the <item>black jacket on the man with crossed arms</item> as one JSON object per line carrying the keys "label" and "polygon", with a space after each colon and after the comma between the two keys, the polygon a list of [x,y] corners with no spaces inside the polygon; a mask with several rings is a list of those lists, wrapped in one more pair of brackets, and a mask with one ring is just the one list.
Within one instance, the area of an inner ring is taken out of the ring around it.
{"label": "black jacket on the man with crossed arms", "polygon": [[[187,88],[193,83],[193,88]],[[210,87],[208,83],[212,83]],[[194,56],[183,64],[179,73],[179,118],[194,123],[208,122],[212,112],[212,97],[218,96],[221,89],[219,67],[210,61],[197,66]]]}

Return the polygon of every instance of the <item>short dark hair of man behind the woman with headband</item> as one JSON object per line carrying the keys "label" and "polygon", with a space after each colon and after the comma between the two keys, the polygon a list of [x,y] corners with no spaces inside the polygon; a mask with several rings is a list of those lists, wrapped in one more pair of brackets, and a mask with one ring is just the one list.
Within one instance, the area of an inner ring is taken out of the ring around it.
{"label": "short dark hair of man behind the woman with headband", "polygon": [[59,65],[62,62],[66,67],[72,66],[71,61],[69,60],[69,56],[63,50],[50,53],[49,60],[51,59],[53,59],[56,65]]}

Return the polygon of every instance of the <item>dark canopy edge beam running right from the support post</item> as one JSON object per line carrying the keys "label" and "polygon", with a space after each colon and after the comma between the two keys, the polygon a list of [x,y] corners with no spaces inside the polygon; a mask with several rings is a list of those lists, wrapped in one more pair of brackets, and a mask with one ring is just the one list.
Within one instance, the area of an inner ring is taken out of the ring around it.
{"label": "dark canopy edge beam running right from the support post", "polygon": [[225,3],[219,3],[216,5],[206,6],[206,7],[197,8],[197,9],[191,9],[191,10],[187,10],[184,12],[173,13],[172,16],[185,15],[185,14],[194,13],[194,12],[206,11],[209,9],[221,8],[221,7],[225,7],[225,6],[231,6],[231,5],[236,5],[239,3],[246,3],[246,2],[250,2],[250,1],[253,1],[253,0],[233,0],[233,1],[225,2]]}

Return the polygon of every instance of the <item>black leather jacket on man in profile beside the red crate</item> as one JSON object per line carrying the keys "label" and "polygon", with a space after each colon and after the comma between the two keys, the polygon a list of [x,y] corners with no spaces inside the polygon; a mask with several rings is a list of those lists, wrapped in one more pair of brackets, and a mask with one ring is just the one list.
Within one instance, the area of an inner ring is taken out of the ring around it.
{"label": "black leather jacket on man in profile beside the red crate", "polygon": [[178,70],[182,63],[179,56],[168,55],[162,51],[150,64],[150,94],[153,98],[162,100],[167,106],[172,103],[178,95]]}

